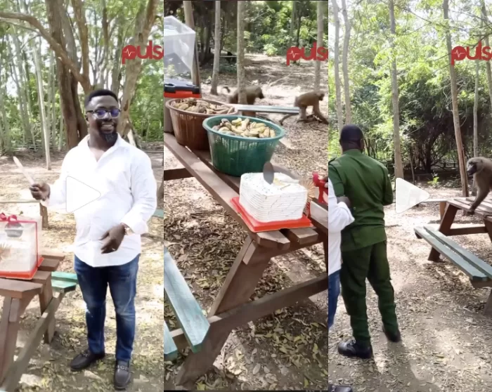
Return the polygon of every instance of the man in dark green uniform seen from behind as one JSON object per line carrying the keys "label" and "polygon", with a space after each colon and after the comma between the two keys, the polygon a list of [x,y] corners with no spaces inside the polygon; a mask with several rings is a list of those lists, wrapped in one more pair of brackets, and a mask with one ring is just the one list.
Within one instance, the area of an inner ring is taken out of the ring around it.
{"label": "man in dark green uniform seen from behind", "polygon": [[373,348],[365,303],[366,278],[379,297],[384,333],[390,341],[401,340],[384,230],[383,206],[393,203],[393,190],[386,167],[363,153],[364,136],[358,126],[344,126],[339,142],[342,156],[329,162],[328,176],[335,195],[349,198],[355,220],[342,231],[340,271],[342,297],[354,339],[339,344],[338,352],[367,359],[373,356]]}

